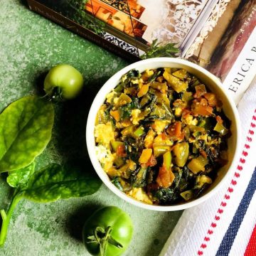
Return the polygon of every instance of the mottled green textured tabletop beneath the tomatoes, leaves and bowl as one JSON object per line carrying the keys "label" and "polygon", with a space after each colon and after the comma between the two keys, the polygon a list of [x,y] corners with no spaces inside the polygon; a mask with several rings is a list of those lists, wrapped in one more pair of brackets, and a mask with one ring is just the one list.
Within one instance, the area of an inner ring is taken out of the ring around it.
{"label": "mottled green textured tabletop beneath the tomatoes, leaves and bowl", "polygon": [[[18,0],[0,1],[0,110],[10,102],[40,93],[46,71],[69,63],[85,77],[85,91],[72,102],[55,106],[53,139],[36,160],[36,169],[51,162],[85,158],[85,124],[100,86],[127,61],[33,14]],[[93,171],[88,164],[86,171]],[[0,176],[0,203],[10,201],[11,189]],[[55,203],[21,201],[14,213],[0,255],[88,255],[80,231],[100,206],[119,206],[134,222],[134,236],[125,255],[158,255],[181,212],[158,213],[125,203],[105,186],[95,195]]]}

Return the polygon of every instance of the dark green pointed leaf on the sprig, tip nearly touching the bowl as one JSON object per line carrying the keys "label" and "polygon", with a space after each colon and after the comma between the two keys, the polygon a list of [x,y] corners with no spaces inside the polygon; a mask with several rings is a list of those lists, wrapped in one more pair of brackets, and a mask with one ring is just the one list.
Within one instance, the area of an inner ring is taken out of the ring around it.
{"label": "dark green pointed leaf on the sprig, tip nearly touching the bowl", "polygon": [[100,179],[88,174],[85,169],[50,164],[36,171],[21,193],[28,200],[47,203],[58,199],[88,196],[95,193],[100,186]]}

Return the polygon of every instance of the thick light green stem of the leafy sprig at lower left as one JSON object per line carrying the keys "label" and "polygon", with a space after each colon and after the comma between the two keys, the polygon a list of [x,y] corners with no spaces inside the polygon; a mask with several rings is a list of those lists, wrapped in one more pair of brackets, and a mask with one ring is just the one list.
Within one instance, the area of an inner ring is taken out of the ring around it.
{"label": "thick light green stem of the leafy sprig at lower left", "polygon": [[7,213],[5,212],[5,210],[0,210],[1,218],[2,218],[1,232],[0,232],[0,247],[4,245],[4,242],[7,236],[7,230],[11,220],[11,215],[14,213],[14,209],[17,203],[21,200],[21,198],[22,198],[21,195],[19,193],[16,193],[16,195],[11,200],[11,204],[9,206]]}

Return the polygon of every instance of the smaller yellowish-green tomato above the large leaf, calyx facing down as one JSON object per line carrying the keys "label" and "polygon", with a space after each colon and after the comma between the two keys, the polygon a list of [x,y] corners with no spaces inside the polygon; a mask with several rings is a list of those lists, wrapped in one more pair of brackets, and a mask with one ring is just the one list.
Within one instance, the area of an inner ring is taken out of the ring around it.
{"label": "smaller yellowish-green tomato above the large leaf, calyx facing down", "polygon": [[51,68],[44,80],[43,88],[46,95],[53,98],[71,100],[82,90],[81,73],[71,65],[59,64]]}

